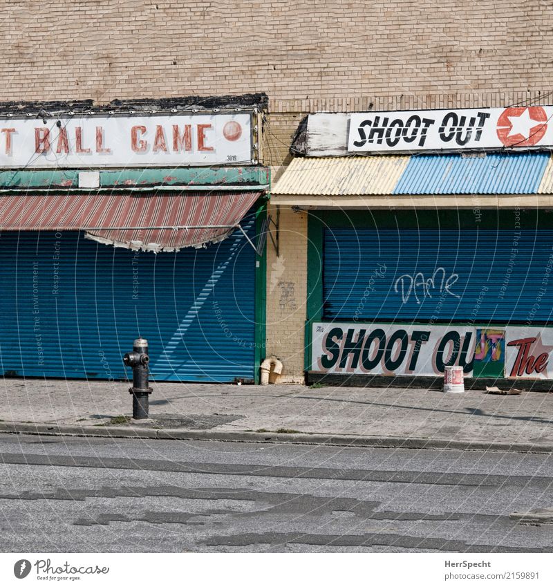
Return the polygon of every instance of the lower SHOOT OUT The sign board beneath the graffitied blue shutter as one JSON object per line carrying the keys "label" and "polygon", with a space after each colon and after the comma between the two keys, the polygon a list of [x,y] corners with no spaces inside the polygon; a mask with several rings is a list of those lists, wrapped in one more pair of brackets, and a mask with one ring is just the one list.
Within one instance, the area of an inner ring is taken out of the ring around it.
{"label": "lower SHOOT OUT The sign board beneath the graffitied blue shutter", "polygon": [[553,328],[315,322],[311,370],[344,375],[553,379]]}

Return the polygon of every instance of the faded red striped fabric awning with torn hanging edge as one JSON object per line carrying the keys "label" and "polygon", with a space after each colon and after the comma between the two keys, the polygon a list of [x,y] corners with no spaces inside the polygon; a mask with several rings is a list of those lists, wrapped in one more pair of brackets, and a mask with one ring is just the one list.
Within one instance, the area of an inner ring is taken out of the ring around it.
{"label": "faded red striped fabric awning with torn hanging edge", "polygon": [[88,239],[153,252],[199,248],[233,232],[261,192],[4,194],[0,230],[84,230]]}

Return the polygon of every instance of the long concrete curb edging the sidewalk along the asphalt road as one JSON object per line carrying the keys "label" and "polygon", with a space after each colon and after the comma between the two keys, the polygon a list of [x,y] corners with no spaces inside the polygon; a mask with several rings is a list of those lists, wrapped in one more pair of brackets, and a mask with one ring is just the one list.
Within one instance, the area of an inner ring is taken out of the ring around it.
{"label": "long concrete curb edging the sidewalk along the asphalt road", "polygon": [[532,442],[485,442],[484,440],[444,440],[399,436],[346,436],[341,434],[277,434],[273,432],[223,432],[212,430],[153,429],[135,427],[92,427],[57,424],[0,422],[0,434],[40,434],[43,436],[86,436],[91,438],[148,438],[156,440],[212,440],[219,442],[265,442],[340,447],[402,449],[448,449],[523,453],[553,453],[553,445]]}

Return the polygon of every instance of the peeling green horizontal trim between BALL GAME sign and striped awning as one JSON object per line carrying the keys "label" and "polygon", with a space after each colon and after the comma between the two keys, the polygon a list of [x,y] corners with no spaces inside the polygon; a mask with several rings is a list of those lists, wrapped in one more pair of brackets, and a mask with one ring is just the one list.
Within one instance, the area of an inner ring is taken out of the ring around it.
{"label": "peeling green horizontal trim between BALL GAME sign and striped awning", "polygon": [[[77,189],[79,173],[91,169],[0,171],[1,189]],[[109,187],[149,187],[153,185],[251,185],[267,186],[268,167],[178,167],[176,169],[103,169],[100,189]],[[88,190],[89,191],[89,190]]]}

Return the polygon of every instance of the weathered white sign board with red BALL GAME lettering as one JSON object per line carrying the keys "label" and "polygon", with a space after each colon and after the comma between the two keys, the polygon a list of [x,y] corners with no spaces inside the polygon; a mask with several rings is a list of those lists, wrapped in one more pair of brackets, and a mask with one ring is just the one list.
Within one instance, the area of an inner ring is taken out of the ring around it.
{"label": "weathered white sign board with red BALL GAME lettering", "polygon": [[252,162],[250,114],[2,118],[0,167],[179,167]]}

